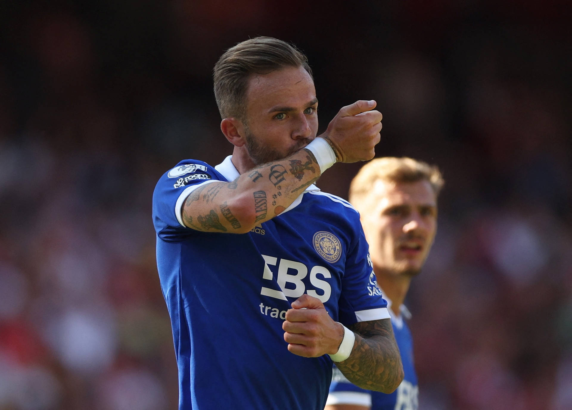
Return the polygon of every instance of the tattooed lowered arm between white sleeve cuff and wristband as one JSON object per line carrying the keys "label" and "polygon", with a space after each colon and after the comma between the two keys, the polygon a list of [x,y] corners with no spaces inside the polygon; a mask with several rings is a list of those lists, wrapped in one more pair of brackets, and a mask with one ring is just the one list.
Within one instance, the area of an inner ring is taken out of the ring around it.
{"label": "tattooed lowered arm between white sleeve cuff and wristband", "polygon": [[358,322],[349,329],[356,342],[336,367],[361,388],[391,393],[403,380],[403,365],[390,319]]}

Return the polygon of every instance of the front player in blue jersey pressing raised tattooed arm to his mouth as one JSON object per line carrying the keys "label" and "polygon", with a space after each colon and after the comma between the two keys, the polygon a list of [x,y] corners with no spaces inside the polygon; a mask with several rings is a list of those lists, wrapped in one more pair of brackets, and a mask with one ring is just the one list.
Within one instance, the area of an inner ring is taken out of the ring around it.
{"label": "front player in blue jersey pressing raised tattooed arm to his mouth", "polygon": [[179,408],[322,410],[332,361],[394,391],[403,369],[359,214],[313,185],[374,157],[375,101],[341,108],[316,137],[307,59],[269,37],[227,50],[214,83],[232,156],[181,161],[153,194]]}

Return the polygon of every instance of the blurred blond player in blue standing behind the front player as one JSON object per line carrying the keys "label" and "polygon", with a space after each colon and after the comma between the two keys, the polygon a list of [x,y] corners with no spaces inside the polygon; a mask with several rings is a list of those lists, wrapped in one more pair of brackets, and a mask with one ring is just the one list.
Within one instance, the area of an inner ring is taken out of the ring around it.
{"label": "blurred blond player in blue standing behind the front player", "polygon": [[376,158],[353,178],[349,201],[360,212],[377,284],[390,308],[405,377],[395,392],[384,394],[359,388],[349,383],[341,369],[334,369],[325,410],[417,410],[413,345],[403,320],[410,313],[403,300],[431,249],[442,186],[436,166],[411,158]]}

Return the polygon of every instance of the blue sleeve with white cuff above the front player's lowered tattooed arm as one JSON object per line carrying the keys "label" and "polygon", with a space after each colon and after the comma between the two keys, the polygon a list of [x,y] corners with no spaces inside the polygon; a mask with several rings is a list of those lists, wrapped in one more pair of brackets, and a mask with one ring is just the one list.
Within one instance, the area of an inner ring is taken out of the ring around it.
{"label": "blue sleeve with white cuff above the front player's lowered tattooed arm", "polygon": [[341,278],[339,320],[346,326],[362,321],[390,318],[387,301],[382,297],[378,287],[369,245],[359,222],[359,216],[356,219],[354,226],[357,240],[353,248],[348,251],[344,275]]}

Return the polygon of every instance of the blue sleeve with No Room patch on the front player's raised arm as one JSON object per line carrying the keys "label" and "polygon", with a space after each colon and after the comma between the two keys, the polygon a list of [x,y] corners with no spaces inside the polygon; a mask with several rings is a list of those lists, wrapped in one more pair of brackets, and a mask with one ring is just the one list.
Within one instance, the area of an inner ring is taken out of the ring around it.
{"label": "blue sleeve with No Room patch on the front player's raised arm", "polygon": [[181,161],[163,174],[153,192],[153,224],[159,236],[165,229],[188,229],[182,223],[181,206],[193,190],[204,184],[226,181],[202,161]]}

